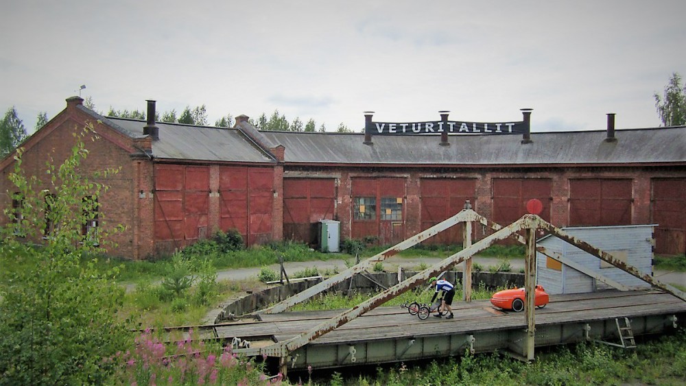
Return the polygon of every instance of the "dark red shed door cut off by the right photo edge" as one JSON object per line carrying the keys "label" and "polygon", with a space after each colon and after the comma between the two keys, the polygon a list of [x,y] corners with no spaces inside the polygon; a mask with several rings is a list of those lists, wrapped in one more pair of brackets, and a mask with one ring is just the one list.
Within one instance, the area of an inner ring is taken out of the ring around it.
{"label": "dark red shed door cut off by the right photo edge", "polygon": [[652,180],[651,217],[655,229],[655,252],[686,253],[686,179]]}

